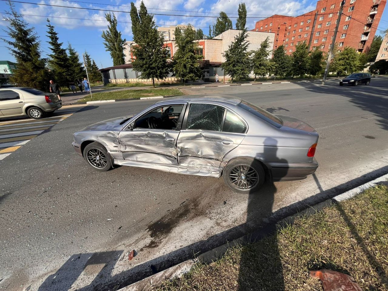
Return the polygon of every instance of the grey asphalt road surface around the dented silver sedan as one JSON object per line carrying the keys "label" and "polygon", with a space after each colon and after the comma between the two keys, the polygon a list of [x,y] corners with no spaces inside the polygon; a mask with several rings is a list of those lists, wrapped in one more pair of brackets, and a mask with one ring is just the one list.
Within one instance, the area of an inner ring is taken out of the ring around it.
{"label": "grey asphalt road surface around the dented silver sedan", "polygon": [[74,153],[72,133],[154,101],[82,107],[0,161],[0,288],[123,286],[388,172],[388,78],[358,87],[330,80],[185,91],[233,95],[306,121],[320,134],[317,172],[267,182],[250,197],[216,178],[125,166],[100,173]]}

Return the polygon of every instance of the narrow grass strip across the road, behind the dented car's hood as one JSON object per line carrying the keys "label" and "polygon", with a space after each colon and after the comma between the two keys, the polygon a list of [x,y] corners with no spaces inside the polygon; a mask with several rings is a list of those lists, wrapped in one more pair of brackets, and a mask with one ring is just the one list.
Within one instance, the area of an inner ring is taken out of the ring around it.
{"label": "narrow grass strip across the road, behind the dented car's hood", "polygon": [[112,100],[112,99],[139,99],[140,97],[154,96],[180,96],[184,95],[178,89],[163,88],[163,89],[139,89],[139,90],[120,90],[112,92],[94,93],[93,99],[88,97],[78,100],[78,102],[96,101],[96,100]]}

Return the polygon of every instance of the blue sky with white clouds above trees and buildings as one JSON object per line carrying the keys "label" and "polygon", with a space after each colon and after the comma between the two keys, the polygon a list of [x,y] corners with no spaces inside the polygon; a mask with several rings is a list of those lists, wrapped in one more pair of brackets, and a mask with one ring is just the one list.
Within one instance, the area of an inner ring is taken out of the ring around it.
{"label": "blue sky with white clouds above trees and buildings", "polygon": [[[50,5],[61,5],[70,7],[85,7],[94,9],[108,9],[118,11],[129,11],[130,2],[125,0],[22,0],[24,2],[44,3]],[[85,3],[87,2],[87,3]],[[94,3],[90,3],[94,2]],[[97,4],[102,3],[104,4]],[[109,4],[107,4],[109,3]],[[227,12],[228,16],[236,17],[237,8],[241,0],[144,0],[146,7],[150,13],[155,14],[177,14],[182,16],[165,16],[155,15],[154,19],[159,26],[168,26],[175,24],[191,23],[196,28],[201,28],[205,34],[208,33],[209,24],[213,24],[215,18],[201,17],[201,16],[217,16],[221,10]],[[315,9],[314,0],[249,0],[246,1],[247,6],[247,27],[252,29],[255,26],[255,21],[262,19],[262,17],[273,14],[284,15],[299,15]],[[74,49],[82,55],[82,52],[87,52],[92,56],[97,65],[101,68],[112,66],[113,62],[109,52],[105,51],[102,44],[101,33],[106,29],[106,21],[104,11],[98,10],[84,10],[76,8],[63,8],[33,5],[25,3],[14,3],[16,10],[20,14],[28,14],[23,16],[25,21],[30,26],[35,27],[38,36],[40,37],[43,56],[50,52],[47,43],[47,17],[39,16],[54,16],[49,17],[51,23],[55,26],[55,30],[59,33],[59,40],[67,46],[70,42]],[[135,2],[139,7],[140,0]],[[7,2],[0,0],[0,13],[8,10]],[[181,11],[173,11],[181,10]],[[129,13],[114,12],[118,21],[118,29],[122,32],[126,40],[132,40],[132,31],[130,24]],[[0,29],[6,29],[7,22],[2,20],[4,13],[0,18]],[[196,17],[190,17],[196,16]],[[67,18],[55,18],[67,17]],[[94,20],[80,20],[94,19]],[[233,26],[236,23],[236,18],[232,18]],[[129,23],[128,23],[129,22]],[[385,30],[388,28],[388,9],[385,9],[383,17],[379,24],[379,29]],[[379,32],[378,32],[379,33]],[[0,35],[4,36],[3,31]],[[14,61],[14,57],[9,53],[5,47],[5,43],[0,41],[0,60]]]}

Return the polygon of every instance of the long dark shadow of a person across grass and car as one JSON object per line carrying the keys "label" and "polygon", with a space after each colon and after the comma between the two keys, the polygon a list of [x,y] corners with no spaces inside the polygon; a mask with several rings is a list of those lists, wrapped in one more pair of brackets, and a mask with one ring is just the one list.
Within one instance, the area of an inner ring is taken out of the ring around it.
{"label": "long dark shadow of a person across grass and car", "polygon": [[[286,159],[277,157],[277,140],[265,139],[263,148],[263,152],[256,155],[257,158],[275,163],[287,163]],[[264,170],[266,175],[264,184],[259,191],[249,191],[248,194],[246,232],[250,235],[242,246],[239,291],[284,290],[276,223],[270,219],[277,189],[268,170],[265,167]],[[276,178],[284,177],[286,174],[287,170],[282,170],[281,173],[276,174]]]}

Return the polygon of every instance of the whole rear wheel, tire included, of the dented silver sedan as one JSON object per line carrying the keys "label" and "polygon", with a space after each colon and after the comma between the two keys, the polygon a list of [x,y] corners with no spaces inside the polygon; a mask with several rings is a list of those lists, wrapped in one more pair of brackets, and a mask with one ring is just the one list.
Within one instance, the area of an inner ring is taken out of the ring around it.
{"label": "whole rear wheel, tire included, of the dented silver sedan", "polygon": [[[248,173],[251,173],[250,178]],[[265,179],[263,166],[258,160],[252,158],[233,159],[225,166],[222,175],[230,189],[243,194],[258,192]],[[254,178],[255,176],[257,179]]]}

